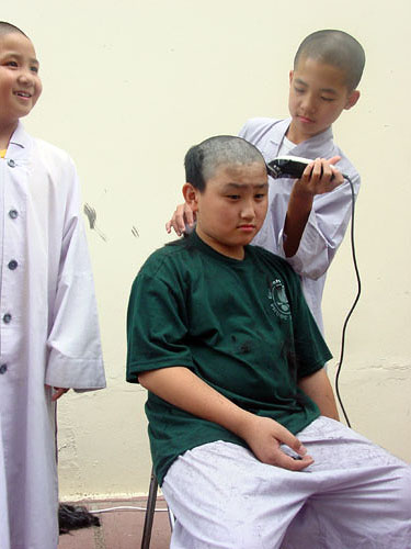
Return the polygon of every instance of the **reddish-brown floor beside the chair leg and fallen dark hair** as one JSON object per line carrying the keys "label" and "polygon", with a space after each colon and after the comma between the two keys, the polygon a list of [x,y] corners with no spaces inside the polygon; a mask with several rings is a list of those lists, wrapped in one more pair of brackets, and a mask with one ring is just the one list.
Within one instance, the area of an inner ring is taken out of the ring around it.
{"label": "reddish-brown floor beside the chair leg and fallen dark hair", "polygon": [[[119,506],[145,507],[147,500],[127,501],[92,501],[76,502],[75,505],[85,505],[93,509]],[[69,502],[67,502],[69,503]],[[157,498],[156,508],[167,509],[162,497]],[[92,526],[60,536],[58,549],[139,549],[141,545],[144,511],[114,511],[98,514],[100,527]],[[170,524],[167,512],[157,512],[152,525],[150,549],[168,549],[170,545]]]}

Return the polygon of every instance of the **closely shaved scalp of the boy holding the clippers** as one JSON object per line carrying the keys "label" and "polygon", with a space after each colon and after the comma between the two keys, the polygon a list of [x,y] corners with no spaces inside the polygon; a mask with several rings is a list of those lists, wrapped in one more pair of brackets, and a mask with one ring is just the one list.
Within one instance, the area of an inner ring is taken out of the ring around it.
{"label": "closely shaved scalp of the boy holding the clippers", "polygon": [[343,70],[350,91],[358,86],[365,65],[363,46],[343,31],[324,30],[309,34],[297,49],[294,69],[300,57],[316,59]]}

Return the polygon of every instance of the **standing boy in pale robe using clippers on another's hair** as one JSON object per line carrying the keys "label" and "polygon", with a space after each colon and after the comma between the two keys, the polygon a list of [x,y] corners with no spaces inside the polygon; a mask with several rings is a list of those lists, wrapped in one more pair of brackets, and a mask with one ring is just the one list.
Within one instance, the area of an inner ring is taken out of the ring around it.
{"label": "standing boy in pale robe using clippers on another's hair", "polygon": [[[249,120],[240,136],[253,143],[267,163],[279,155],[339,157],[336,167],[350,177],[356,195],[359,176],[334,144],[331,126],[343,110],[357,102],[356,87],[364,64],[364,49],[350,34],[334,30],[310,34],[299,46],[289,74],[290,117]],[[285,257],[293,266],[322,330],[326,273],[350,222],[350,184],[345,181],[338,188],[333,183],[324,187],[313,184],[309,177],[269,181],[267,215],[253,244]],[[181,234],[185,222],[192,224],[193,213],[187,204],[182,204],[167,228],[173,226]]]}

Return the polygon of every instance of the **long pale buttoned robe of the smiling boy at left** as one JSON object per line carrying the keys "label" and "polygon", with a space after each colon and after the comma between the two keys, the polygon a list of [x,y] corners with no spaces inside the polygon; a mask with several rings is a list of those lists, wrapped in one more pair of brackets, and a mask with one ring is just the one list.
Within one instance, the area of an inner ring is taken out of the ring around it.
{"label": "long pale buttoned robe of the smiling boy at left", "polygon": [[0,526],[9,516],[10,529],[0,529],[1,549],[57,547],[55,405],[45,383],[105,385],[79,206],[71,159],[19,124],[0,159]]}

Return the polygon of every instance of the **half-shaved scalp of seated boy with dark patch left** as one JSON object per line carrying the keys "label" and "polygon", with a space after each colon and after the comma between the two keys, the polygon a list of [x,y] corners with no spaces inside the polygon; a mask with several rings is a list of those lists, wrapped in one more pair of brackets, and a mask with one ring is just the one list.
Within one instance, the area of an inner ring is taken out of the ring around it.
{"label": "half-shaved scalp of seated boy with dark patch left", "polygon": [[241,137],[217,135],[194,145],[184,158],[185,180],[203,192],[219,166],[265,166],[260,150]]}

